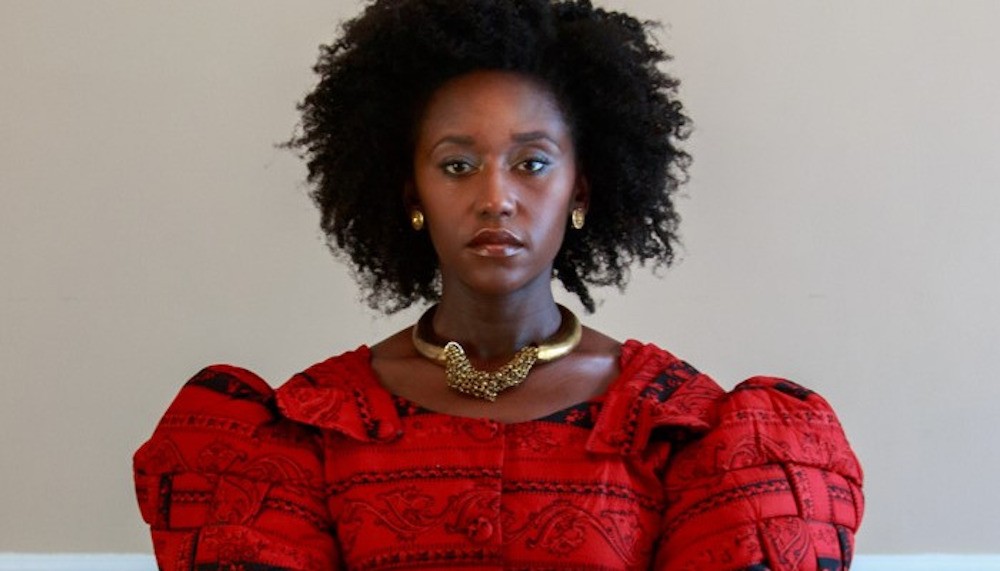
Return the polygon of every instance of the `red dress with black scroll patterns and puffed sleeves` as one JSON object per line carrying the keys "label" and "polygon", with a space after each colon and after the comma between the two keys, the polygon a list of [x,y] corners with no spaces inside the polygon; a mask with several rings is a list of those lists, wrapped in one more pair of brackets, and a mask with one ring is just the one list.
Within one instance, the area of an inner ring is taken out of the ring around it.
{"label": "red dress with black scroll patterns and puffed sleeves", "polygon": [[840,570],[861,469],[818,395],[725,393],[653,345],[606,394],[503,424],[383,389],[367,347],[273,391],[209,367],[135,455],[164,571]]}

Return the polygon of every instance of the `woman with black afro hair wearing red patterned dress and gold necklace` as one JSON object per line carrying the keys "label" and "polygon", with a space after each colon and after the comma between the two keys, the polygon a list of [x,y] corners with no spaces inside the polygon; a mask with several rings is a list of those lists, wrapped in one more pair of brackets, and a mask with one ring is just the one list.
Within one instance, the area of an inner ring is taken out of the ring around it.
{"label": "woman with black afro hair wearing red patterned dress and gold necklace", "polygon": [[136,454],[162,569],[844,569],[861,472],[817,395],[726,394],[553,300],[669,263],[687,119],[635,19],[381,0],[292,142],[373,307],[412,328],[277,391],[196,375]]}

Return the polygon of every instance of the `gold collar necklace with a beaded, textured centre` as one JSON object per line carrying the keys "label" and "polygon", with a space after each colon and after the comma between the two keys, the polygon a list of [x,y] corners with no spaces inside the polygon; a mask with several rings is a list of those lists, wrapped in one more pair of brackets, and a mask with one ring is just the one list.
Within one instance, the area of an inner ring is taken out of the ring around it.
{"label": "gold collar necklace with a beaded, textured centre", "polygon": [[424,357],[444,365],[449,387],[462,394],[493,402],[502,391],[523,383],[535,363],[555,361],[568,355],[580,344],[580,320],[572,311],[561,305],[558,307],[562,316],[559,330],[541,343],[521,348],[514,354],[514,358],[495,371],[476,369],[457,341],[446,342],[434,333],[431,322],[437,305],[425,311],[413,326],[413,346]]}

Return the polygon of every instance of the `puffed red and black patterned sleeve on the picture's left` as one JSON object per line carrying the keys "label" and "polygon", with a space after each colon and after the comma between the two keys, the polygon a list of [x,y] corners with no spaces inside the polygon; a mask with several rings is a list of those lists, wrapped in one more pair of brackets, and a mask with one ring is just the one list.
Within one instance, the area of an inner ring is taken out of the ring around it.
{"label": "puffed red and black patterned sleeve on the picture's left", "polygon": [[194,376],[134,457],[160,569],[337,569],[318,435],[225,365]]}

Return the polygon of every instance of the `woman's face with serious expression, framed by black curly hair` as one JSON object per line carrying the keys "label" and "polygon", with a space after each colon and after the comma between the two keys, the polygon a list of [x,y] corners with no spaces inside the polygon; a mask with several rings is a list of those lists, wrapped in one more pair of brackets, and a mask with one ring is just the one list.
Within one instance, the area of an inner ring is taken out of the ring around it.
{"label": "woman's face with serious expression, framed by black curly hair", "polygon": [[445,295],[549,287],[569,213],[587,194],[547,89],[510,72],[451,80],[424,111],[413,162],[410,199],[426,218]]}

